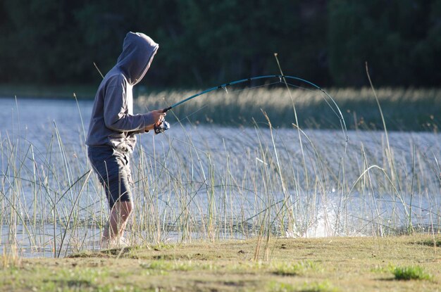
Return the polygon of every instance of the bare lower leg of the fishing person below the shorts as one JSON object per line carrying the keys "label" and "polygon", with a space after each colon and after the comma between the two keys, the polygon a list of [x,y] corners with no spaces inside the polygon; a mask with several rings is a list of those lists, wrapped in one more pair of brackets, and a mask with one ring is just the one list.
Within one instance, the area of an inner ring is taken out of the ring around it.
{"label": "bare lower leg of the fishing person below the shorts", "polygon": [[101,243],[123,236],[132,209],[132,202],[116,202],[113,205],[110,217],[108,218],[108,227],[104,229]]}

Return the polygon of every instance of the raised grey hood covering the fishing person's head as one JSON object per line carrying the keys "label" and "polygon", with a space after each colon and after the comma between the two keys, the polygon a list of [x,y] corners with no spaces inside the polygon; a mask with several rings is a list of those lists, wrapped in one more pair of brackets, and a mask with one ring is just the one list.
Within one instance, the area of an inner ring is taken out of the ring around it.
{"label": "raised grey hood covering the fishing person's head", "polygon": [[123,70],[128,82],[132,85],[142,80],[159,44],[141,32],[128,32],[123,44],[123,52],[118,57],[116,66]]}

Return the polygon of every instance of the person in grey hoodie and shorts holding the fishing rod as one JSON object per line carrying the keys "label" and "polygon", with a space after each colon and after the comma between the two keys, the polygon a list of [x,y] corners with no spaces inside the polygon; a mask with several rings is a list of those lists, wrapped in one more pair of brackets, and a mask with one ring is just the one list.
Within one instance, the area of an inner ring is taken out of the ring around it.
{"label": "person in grey hoodie and shorts holding the fishing rod", "polygon": [[125,226],[133,209],[130,153],[136,134],[161,125],[166,113],[133,114],[132,87],[149,70],[159,45],[139,32],[128,32],[116,65],[102,80],[94,99],[87,134],[87,155],[104,186],[110,215],[101,247],[124,246]]}

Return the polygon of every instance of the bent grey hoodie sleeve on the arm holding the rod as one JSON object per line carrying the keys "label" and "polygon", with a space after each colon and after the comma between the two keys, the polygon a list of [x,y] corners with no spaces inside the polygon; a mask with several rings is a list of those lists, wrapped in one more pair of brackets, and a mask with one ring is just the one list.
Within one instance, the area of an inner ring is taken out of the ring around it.
{"label": "bent grey hoodie sleeve on the arm holding the rod", "polygon": [[130,115],[126,91],[125,82],[109,80],[104,95],[104,123],[114,131],[143,133],[154,120],[150,113]]}

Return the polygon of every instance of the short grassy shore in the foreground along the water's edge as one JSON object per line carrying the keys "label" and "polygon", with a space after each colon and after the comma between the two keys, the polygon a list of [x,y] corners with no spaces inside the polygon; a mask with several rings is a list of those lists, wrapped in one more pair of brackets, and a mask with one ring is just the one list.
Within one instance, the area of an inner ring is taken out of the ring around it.
{"label": "short grassy shore in the foreground along the water's edge", "polygon": [[[201,241],[3,256],[1,291],[440,291],[440,236]],[[397,269],[424,277],[399,280]]]}

